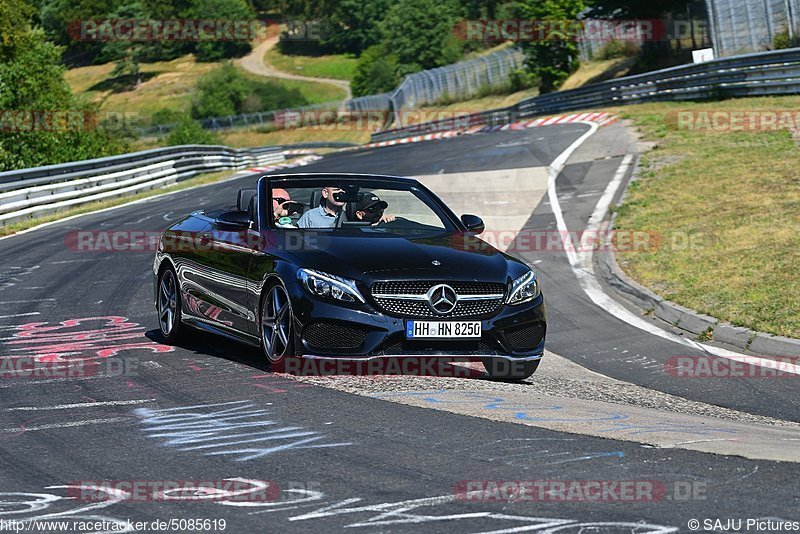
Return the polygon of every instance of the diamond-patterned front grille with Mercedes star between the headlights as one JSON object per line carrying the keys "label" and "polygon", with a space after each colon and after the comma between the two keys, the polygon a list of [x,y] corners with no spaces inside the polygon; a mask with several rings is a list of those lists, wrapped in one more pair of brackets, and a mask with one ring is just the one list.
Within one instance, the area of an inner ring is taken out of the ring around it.
{"label": "diamond-patterned front grille with Mercedes star between the headlights", "polygon": [[[398,300],[381,295],[425,295],[430,288],[440,283],[452,287],[458,295],[503,295],[491,300],[459,301],[448,314],[438,314],[428,305],[427,300]],[[372,298],[378,308],[388,315],[405,318],[452,319],[484,317],[496,313],[505,300],[506,287],[491,282],[436,282],[436,281],[391,281],[372,284]]]}

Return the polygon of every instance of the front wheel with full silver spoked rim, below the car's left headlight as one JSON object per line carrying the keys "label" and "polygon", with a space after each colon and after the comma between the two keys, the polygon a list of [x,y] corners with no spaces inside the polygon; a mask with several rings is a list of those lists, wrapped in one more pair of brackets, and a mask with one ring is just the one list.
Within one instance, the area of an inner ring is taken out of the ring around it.
{"label": "front wheel with full silver spoked rim, below the car's left headlight", "polygon": [[283,364],[294,349],[292,301],[283,285],[276,283],[261,296],[261,350],[273,367]]}

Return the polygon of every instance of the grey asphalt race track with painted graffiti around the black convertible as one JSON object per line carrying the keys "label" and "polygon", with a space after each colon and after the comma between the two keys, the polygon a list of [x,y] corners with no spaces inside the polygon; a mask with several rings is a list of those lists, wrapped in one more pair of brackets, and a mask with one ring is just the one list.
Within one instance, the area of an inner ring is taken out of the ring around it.
{"label": "grey asphalt race track with painted graffiti around the black convertible", "polygon": [[[515,230],[557,230],[547,169],[588,128],[342,152],[303,170],[424,176],[459,210],[497,216],[487,221],[517,210],[521,218],[507,219],[520,221]],[[555,182],[568,229],[587,227],[634,150],[620,124],[577,147]],[[447,188],[469,173],[512,172],[536,176],[537,185],[525,194],[492,190],[488,180]],[[552,353],[526,383],[509,385],[481,377],[293,377],[271,373],[258,351],[201,333],[180,347],[161,345],[153,252],[67,246],[78,230],[160,231],[191,211],[233,204],[237,189],[256,178],[0,240],[0,361],[71,358],[91,370],[3,374],[0,520],[130,527],[129,520],[224,519],[226,532],[610,533],[689,532],[690,519],[800,519],[796,381],[670,376],[669,358],[703,353],[598,307],[563,252],[508,247],[540,275]],[[665,414],[693,419],[656,428]],[[629,416],[651,426],[620,425]],[[773,430],[766,456],[702,452]],[[93,481],[108,480],[229,480],[247,489],[208,499],[88,497]],[[647,491],[634,499],[612,492],[609,502],[504,501],[475,491],[487,481],[523,480],[637,481]]]}

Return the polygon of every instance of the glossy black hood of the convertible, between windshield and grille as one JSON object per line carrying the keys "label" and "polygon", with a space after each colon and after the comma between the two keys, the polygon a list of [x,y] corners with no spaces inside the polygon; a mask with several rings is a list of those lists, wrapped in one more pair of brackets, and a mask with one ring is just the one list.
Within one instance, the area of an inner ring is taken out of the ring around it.
{"label": "glossy black hood of the convertible, between windshield and grille", "polygon": [[472,234],[406,237],[285,232],[274,244],[294,256],[298,266],[366,283],[409,278],[506,283],[509,276],[527,270],[522,262]]}

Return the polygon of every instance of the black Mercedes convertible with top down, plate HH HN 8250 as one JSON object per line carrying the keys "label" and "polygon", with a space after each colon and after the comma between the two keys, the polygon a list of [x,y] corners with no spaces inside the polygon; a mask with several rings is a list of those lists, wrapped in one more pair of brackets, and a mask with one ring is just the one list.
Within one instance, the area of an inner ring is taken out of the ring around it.
{"label": "black Mercedes convertible with top down, plate HH HN 8250", "polygon": [[273,365],[469,358],[493,378],[524,379],[544,352],[544,299],[536,274],[480,240],[483,229],[410,178],[263,176],[235,207],[161,234],[161,333],[223,335]]}

